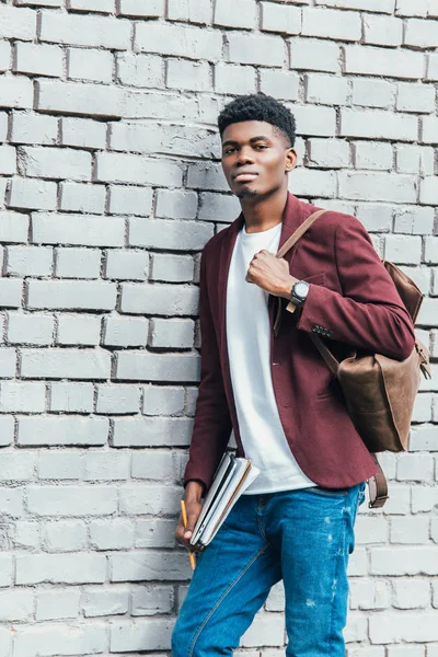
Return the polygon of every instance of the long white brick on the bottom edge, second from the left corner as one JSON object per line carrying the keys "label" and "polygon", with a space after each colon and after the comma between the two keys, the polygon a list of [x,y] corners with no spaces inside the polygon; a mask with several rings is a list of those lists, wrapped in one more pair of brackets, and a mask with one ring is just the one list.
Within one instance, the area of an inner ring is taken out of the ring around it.
{"label": "long white brick on the bottom edge, second from the left corner", "polygon": [[18,657],[37,657],[48,648],[54,655],[62,652],[66,655],[89,655],[102,653],[106,643],[106,627],[103,624],[50,624],[18,630],[14,653]]}

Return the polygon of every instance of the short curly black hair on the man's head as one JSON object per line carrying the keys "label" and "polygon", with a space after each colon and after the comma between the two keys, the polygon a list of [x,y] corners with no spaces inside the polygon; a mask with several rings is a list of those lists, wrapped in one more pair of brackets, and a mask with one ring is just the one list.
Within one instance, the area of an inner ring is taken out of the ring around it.
{"label": "short curly black hair on the man's head", "polygon": [[228,103],[218,116],[220,136],[222,137],[228,126],[243,120],[265,120],[281,130],[290,142],[290,148],[295,145],[295,116],[290,110],[272,96],[253,93],[239,96]]}

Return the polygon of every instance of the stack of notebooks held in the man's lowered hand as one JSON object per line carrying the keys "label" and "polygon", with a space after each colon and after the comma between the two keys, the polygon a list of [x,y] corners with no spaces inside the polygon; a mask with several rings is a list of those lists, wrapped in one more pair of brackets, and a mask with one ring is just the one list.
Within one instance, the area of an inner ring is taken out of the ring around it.
{"label": "stack of notebooks held in the man's lowered hand", "polygon": [[258,468],[250,459],[223,454],[193,531],[192,545],[208,545],[212,541],[239,497],[258,474]]}

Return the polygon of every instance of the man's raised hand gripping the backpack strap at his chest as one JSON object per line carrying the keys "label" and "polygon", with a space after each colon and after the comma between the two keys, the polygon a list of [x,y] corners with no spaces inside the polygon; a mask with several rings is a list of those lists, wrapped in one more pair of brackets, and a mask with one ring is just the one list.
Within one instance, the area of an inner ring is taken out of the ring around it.
{"label": "man's raised hand gripping the backpack strap at his chest", "polygon": [[247,268],[245,280],[255,283],[275,297],[290,299],[290,293],[298,278],[289,274],[289,263],[274,253],[260,251],[253,257]]}

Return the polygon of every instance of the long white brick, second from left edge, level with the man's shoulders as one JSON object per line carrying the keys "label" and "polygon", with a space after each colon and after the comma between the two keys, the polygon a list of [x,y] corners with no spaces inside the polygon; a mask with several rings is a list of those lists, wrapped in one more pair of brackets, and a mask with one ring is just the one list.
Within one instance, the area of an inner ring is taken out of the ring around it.
{"label": "long white brick, second from left edge, level with the man's shoulders", "polygon": [[32,217],[33,242],[37,244],[79,244],[123,246],[125,219],[38,212]]}

